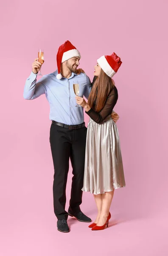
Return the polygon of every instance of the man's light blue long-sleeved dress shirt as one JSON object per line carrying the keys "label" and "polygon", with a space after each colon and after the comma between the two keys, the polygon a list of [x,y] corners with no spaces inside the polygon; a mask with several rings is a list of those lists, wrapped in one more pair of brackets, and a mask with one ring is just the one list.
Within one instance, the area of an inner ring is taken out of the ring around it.
{"label": "man's light blue long-sleeved dress shirt", "polygon": [[72,73],[70,78],[56,79],[58,71],[45,75],[36,82],[36,74],[31,72],[26,80],[24,99],[36,99],[45,94],[50,104],[50,120],[66,125],[79,125],[84,122],[84,109],[76,107],[76,95],[73,91],[73,81],[78,81],[79,96],[87,99],[91,91],[91,82],[85,73],[76,75]]}

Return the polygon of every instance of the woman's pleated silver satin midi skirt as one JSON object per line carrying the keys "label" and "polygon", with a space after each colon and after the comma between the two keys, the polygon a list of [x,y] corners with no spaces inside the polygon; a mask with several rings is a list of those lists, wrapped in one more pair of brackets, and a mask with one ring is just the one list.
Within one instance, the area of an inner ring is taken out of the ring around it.
{"label": "woman's pleated silver satin midi skirt", "polygon": [[115,122],[111,116],[101,124],[90,118],[82,190],[97,195],[125,186],[120,140]]}

